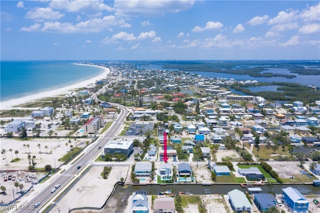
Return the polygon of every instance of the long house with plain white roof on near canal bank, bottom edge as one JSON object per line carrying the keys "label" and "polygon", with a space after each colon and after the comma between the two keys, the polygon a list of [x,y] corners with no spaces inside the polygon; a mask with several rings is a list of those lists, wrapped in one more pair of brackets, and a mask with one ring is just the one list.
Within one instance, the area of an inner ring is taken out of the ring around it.
{"label": "long house with plain white roof on near canal bank, bottom edge", "polygon": [[232,191],[228,192],[228,196],[233,210],[236,212],[251,212],[252,205],[242,191],[233,189]]}

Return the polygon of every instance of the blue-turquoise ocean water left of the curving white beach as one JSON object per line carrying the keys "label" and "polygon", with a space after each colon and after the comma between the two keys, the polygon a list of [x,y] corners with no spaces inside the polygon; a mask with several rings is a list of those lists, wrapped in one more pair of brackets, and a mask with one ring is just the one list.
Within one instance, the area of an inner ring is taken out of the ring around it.
{"label": "blue-turquoise ocean water left of the curving white beach", "polygon": [[60,88],[103,72],[103,68],[75,62],[0,61],[0,101]]}

